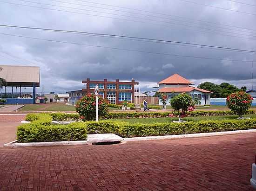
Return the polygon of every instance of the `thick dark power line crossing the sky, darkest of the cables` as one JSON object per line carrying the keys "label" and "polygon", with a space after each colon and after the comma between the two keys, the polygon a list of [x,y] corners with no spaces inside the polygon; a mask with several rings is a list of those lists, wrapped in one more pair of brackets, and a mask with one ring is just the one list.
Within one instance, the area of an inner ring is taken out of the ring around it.
{"label": "thick dark power line crossing the sky, darkest of the cables", "polygon": [[256,51],[252,51],[252,50],[236,49],[236,48],[229,48],[229,47],[223,47],[223,46],[214,46],[214,45],[202,45],[202,44],[196,44],[196,43],[190,43],[190,42],[181,42],[181,41],[164,40],[164,39],[156,39],[156,38],[142,38],[142,37],[133,37],[133,36],[126,36],[126,35],[84,32],[84,31],[71,31],[71,30],[60,30],[60,29],[49,29],[49,28],[28,27],[28,26],[15,26],[15,25],[0,25],[0,26],[11,27],[11,28],[42,30],[42,31],[52,31],[52,32],[71,32],[71,33],[80,33],[80,34],[95,35],[95,36],[101,36],[101,37],[108,37],[108,36],[109,37],[120,37],[120,38],[128,38],[128,39],[146,40],[147,42],[177,43],[177,44],[182,44],[182,45],[195,45],[195,46],[217,48],[217,49],[224,49],[224,50],[230,50],[230,51],[242,51],[242,52],[256,53]]}

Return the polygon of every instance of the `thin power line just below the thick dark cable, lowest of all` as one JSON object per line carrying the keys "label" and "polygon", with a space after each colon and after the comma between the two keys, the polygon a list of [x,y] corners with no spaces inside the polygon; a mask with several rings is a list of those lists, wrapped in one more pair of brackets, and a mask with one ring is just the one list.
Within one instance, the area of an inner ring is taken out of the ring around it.
{"label": "thin power line just below the thick dark cable, lowest of all", "polygon": [[88,44],[81,44],[81,43],[74,43],[74,42],[67,42],[67,41],[51,40],[51,39],[46,39],[46,38],[35,38],[35,37],[27,37],[27,36],[21,36],[21,35],[13,35],[13,34],[7,34],[7,33],[0,33],[0,34],[7,35],[7,36],[13,36],[13,37],[44,40],[44,41],[49,41],[49,42],[65,43],[65,44],[72,44],[72,45],[84,45],[84,46],[91,46],[91,47],[97,47],[97,48],[107,48],[107,49],[119,50],[119,51],[132,51],[132,52],[149,53],[149,54],[156,54],[156,55],[165,55],[165,56],[174,56],[174,57],[189,57],[189,58],[208,59],[208,60],[221,60],[221,61],[226,60],[226,61],[232,61],[232,62],[245,62],[245,63],[255,62],[255,61],[251,61],[251,60],[234,60],[234,59],[222,59],[222,58],[213,58],[213,57],[188,56],[188,55],[169,54],[169,53],[162,53],[162,52],[116,48],[116,47],[111,47],[111,46],[88,45]]}

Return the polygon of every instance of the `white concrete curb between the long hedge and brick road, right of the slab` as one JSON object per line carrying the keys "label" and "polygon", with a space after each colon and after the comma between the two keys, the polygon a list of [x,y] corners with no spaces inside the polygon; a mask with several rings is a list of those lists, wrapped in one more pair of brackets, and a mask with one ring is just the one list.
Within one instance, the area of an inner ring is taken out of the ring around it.
{"label": "white concrete curb between the long hedge and brick road, right of the slab", "polygon": [[141,141],[141,140],[185,139],[185,138],[211,137],[211,136],[220,136],[220,135],[229,135],[229,134],[246,134],[246,133],[256,133],[256,129],[222,131],[222,132],[215,132],[215,133],[200,133],[200,134],[177,134],[177,135],[163,135],[163,136],[133,137],[133,138],[124,138],[123,142]]}

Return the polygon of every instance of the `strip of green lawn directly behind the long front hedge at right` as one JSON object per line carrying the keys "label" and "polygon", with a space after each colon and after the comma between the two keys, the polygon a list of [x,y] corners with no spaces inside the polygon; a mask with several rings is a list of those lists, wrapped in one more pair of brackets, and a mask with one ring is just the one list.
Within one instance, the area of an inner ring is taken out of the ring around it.
{"label": "strip of green lawn directly behind the long front hedge at right", "polygon": [[[256,114],[244,115],[244,117],[256,118]],[[185,121],[205,121],[205,120],[227,120],[237,119],[238,115],[226,115],[226,116],[199,116],[199,117],[184,117]],[[170,123],[172,121],[178,121],[177,117],[164,117],[164,118],[137,118],[137,119],[113,119],[114,121],[125,121],[129,123]]]}

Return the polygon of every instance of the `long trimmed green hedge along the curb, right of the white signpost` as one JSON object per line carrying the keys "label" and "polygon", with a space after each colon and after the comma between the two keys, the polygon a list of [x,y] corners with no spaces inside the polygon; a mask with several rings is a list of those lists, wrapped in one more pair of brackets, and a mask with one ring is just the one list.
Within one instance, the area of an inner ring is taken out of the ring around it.
{"label": "long trimmed green hedge along the curb, right of the white signpost", "polygon": [[198,121],[186,123],[128,123],[123,121],[88,121],[85,123],[88,133],[115,133],[122,137],[194,134],[220,131],[255,129],[256,119]]}

